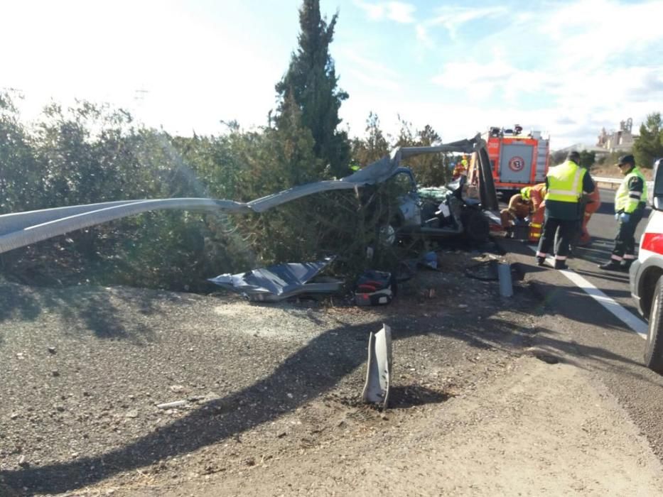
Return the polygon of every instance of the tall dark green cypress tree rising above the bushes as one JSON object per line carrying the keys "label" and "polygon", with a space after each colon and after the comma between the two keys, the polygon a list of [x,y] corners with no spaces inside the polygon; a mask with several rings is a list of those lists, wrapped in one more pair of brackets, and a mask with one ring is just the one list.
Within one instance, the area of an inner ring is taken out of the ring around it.
{"label": "tall dark green cypress tree rising above the bushes", "polygon": [[[350,141],[345,131],[338,131],[338,117],[347,93],[338,88],[334,61],[329,54],[338,13],[330,23],[320,17],[319,0],[304,0],[299,9],[299,47],[292,54],[290,66],[283,79],[276,84],[279,109],[276,127],[292,123],[290,98],[296,102],[301,125],[311,130],[315,145],[313,152],[320,159],[319,176],[344,176],[349,173]],[[314,167],[312,165],[312,167]]]}

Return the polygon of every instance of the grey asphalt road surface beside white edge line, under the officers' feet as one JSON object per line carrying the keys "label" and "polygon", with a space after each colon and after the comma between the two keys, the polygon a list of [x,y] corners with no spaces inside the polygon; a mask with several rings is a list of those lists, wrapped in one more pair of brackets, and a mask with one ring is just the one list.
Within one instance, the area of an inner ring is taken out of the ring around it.
{"label": "grey asphalt road surface beside white edge line, under the officers' feet", "polygon": [[[630,297],[627,273],[602,271],[597,267],[610,257],[616,229],[614,192],[601,190],[600,194],[601,207],[589,224],[593,243],[586,249],[578,249],[568,266],[640,317]],[[649,212],[647,209],[647,217]],[[640,240],[646,224],[647,219],[640,222],[636,241]],[[505,248],[512,261],[519,263],[525,281],[543,297],[541,309],[534,311],[540,323],[539,345],[592,371],[595,380],[618,398],[654,452],[663,458],[663,376],[642,364],[645,340],[564,273],[537,267],[531,247],[507,240]]]}

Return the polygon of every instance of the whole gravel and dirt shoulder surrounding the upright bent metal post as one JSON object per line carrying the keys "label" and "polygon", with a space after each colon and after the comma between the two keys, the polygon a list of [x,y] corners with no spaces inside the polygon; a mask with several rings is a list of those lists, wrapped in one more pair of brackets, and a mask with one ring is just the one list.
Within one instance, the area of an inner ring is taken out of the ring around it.
{"label": "whole gravel and dirt shoulder surrounding the upright bent metal post", "polygon": [[[662,493],[614,399],[536,358],[538,297],[465,275],[483,260],[443,253],[370,309],[1,283],[0,494]],[[359,398],[383,322],[380,412]]]}

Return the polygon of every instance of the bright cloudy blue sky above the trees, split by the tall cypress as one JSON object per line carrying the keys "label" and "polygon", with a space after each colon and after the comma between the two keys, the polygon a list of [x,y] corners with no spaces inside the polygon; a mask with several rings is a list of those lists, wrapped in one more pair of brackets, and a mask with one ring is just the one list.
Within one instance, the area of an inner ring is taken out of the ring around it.
{"label": "bright cloudy blue sky above the trees, split by the tall cypress", "polygon": [[[300,0],[4,3],[0,87],[26,118],[49,99],[110,102],[172,133],[265,124],[296,49]],[[489,126],[539,129],[551,146],[663,111],[663,0],[320,0],[339,12],[331,53],[350,94],[342,126],[370,111],[430,124],[443,141]]]}

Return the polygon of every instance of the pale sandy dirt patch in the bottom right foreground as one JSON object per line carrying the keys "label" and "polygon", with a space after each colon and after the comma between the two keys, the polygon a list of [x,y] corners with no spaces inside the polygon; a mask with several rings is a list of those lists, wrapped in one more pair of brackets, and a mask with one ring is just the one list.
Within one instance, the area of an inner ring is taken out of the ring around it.
{"label": "pale sandy dirt patch in the bottom right foreground", "polygon": [[[660,466],[582,370],[523,357],[509,374],[424,413],[340,422],[298,449],[215,474],[132,488],[136,496],[635,495],[659,493]],[[554,368],[551,370],[551,368]],[[558,388],[563,382],[564,389]],[[586,403],[578,406],[577,399]],[[624,451],[624,452],[622,452]],[[615,464],[617,461],[617,464]],[[645,491],[645,493],[647,493]],[[121,493],[124,494],[124,493]]]}

